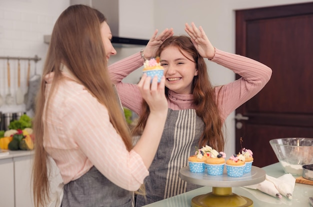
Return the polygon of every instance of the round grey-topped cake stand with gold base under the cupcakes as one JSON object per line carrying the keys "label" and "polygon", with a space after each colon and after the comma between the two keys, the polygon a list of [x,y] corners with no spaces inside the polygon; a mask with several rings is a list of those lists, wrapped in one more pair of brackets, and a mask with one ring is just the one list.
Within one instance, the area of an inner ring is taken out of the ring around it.
{"label": "round grey-topped cake stand with gold base under the cupcakes", "polygon": [[179,170],[179,176],[186,182],[212,186],[212,192],[197,195],[191,199],[192,207],[210,207],[210,206],[253,206],[253,201],[247,197],[237,195],[231,192],[231,187],[256,184],[265,180],[265,171],[259,167],[252,166],[251,172],[243,174],[241,177],[227,176],[226,168],[222,175],[209,175],[205,169],[204,172],[190,172],[189,166],[182,167]]}

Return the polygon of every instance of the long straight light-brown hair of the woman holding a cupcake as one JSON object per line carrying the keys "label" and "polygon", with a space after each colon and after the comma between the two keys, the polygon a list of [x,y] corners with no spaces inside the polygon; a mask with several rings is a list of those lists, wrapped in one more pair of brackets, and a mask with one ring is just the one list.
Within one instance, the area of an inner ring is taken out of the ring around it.
{"label": "long straight light-brown hair of the woman holding a cupcake", "polygon": [[[62,79],[60,65],[64,64],[87,90],[106,106],[110,122],[123,139],[128,150],[132,148],[129,129],[120,112],[109,79],[107,60],[100,34],[103,14],[85,5],[72,5],[58,17],[53,27],[51,41],[44,63],[42,76],[54,72],[51,91],[44,96],[45,80],[42,78],[36,98],[33,131],[35,154],[32,184],[35,206],[43,206],[49,199],[49,162],[43,147],[45,124],[42,121],[44,104],[52,98]],[[57,111],[55,111],[57,113]],[[46,115],[46,114],[45,114]]]}

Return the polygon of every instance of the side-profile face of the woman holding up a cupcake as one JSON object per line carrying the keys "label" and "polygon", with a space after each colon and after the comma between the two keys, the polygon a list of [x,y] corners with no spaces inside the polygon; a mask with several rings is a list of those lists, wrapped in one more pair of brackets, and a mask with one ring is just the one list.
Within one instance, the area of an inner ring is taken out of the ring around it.
{"label": "side-profile face of the woman holding up a cupcake", "polygon": [[112,45],[111,29],[108,26],[108,24],[106,23],[106,21],[103,21],[100,24],[100,32],[101,32],[101,38],[102,38],[102,42],[103,42],[103,46],[104,46],[104,50],[105,50],[106,60],[108,60],[110,55],[116,54],[116,50],[114,49],[114,47]]}

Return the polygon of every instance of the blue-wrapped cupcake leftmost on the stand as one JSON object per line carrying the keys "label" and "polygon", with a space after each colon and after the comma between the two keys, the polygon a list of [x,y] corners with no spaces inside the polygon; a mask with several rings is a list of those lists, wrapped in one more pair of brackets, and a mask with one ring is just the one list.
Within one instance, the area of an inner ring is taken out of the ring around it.
{"label": "blue-wrapped cupcake leftmost on the stand", "polygon": [[204,172],[204,161],[207,158],[207,154],[201,149],[197,149],[194,155],[188,157],[188,165],[191,172]]}

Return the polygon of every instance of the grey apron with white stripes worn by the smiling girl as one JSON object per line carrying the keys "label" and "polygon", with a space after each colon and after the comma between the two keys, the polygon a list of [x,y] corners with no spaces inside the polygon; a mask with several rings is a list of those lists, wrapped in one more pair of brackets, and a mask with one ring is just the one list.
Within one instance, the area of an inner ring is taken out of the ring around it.
{"label": "grey apron with white stripes worn by the smiling girl", "polygon": [[200,187],[180,179],[179,169],[188,165],[203,126],[194,109],[168,109],[160,144],[149,167],[149,176],[144,179],[146,199],[137,195],[136,207]]}

